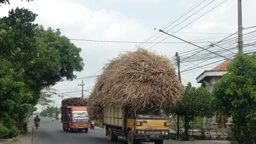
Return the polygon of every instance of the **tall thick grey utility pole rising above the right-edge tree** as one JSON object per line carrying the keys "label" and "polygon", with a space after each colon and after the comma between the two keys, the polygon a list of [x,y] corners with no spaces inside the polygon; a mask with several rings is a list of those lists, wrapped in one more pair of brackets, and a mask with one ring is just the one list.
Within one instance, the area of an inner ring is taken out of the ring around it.
{"label": "tall thick grey utility pole rising above the right-edge tree", "polygon": [[237,0],[238,12],[238,51],[243,53],[242,0]]}

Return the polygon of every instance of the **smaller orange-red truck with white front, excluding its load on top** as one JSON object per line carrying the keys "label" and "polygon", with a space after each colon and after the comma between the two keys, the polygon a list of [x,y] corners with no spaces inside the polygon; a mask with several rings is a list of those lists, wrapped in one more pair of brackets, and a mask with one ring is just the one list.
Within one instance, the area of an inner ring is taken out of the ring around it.
{"label": "smaller orange-red truck with white front, excluding its load on top", "polygon": [[85,106],[62,106],[61,123],[63,131],[85,131],[90,128],[87,108]]}

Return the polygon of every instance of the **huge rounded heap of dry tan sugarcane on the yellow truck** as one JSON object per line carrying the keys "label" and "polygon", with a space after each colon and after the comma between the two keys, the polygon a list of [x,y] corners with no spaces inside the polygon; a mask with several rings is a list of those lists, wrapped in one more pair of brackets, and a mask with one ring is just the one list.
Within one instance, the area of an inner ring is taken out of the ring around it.
{"label": "huge rounded heap of dry tan sugarcane on the yellow truck", "polygon": [[176,104],[182,88],[168,58],[138,49],[120,54],[106,65],[88,99],[88,111],[97,118],[104,106],[163,108]]}

